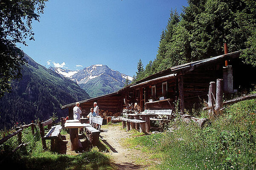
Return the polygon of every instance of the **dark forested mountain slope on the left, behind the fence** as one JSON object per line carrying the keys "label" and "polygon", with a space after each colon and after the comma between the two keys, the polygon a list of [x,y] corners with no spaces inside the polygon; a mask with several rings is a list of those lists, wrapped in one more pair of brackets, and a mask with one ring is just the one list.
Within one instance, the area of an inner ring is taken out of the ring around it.
{"label": "dark forested mountain slope on the left, behind the fence", "polygon": [[52,70],[36,63],[28,55],[23,66],[22,79],[12,82],[12,93],[0,99],[0,129],[16,123],[48,119],[52,113],[58,118],[67,116],[62,105],[81,101],[90,96],[76,84]]}

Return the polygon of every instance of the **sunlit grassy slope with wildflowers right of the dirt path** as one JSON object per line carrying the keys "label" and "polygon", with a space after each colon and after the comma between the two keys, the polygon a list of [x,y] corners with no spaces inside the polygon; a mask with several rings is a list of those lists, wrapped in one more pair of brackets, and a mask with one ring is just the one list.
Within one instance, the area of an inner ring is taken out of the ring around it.
{"label": "sunlit grassy slope with wildflowers right of the dirt path", "polygon": [[[207,115],[202,112],[201,116]],[[138,136],[126,141],[158,159],[156,170],[256,169],[256,100],[226,106],[223,116],[204,128],[179,120],[175,132]]]}

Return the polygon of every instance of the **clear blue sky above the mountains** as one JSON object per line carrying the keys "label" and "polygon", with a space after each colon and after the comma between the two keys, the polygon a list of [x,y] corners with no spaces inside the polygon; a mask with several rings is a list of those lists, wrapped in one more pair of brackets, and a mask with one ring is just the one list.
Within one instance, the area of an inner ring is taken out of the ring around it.
{"label": "clear blue sky above the mountains", "polygon": [[35,41],[21,49],[36,62],[71,70],[93,64],[133,76],[157,54],[170,10],[180,13],[186,0],[50,0]]}

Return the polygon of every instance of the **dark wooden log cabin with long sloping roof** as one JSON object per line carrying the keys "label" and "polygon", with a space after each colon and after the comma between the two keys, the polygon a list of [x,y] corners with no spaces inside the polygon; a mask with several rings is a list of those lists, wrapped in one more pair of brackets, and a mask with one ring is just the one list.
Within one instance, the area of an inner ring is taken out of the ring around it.
{"label": "dark wooden log cabin with long sloping roof", "polygon": [[[220,55],[200,61],[178,65],[153,74],[117,92],[87,99],[80,102],[84,116],[90,112],[93,102],[106,116],[120,116],[125,108],[124,99],[129,103],[137,103],[139,111],[144,109],[173,109],[179,103],[179,111],[190,110],[207,101],[209,83],[216,79],[224,79],[224,92],[241,91],[256,83],[252,73],[256,69],[244,64],[239,58],[241,51]],[[229,66],[225,66],[225,61]],[[75,103],[65,105],[69,115],[73,117]],[[177,106],[176,106],[177,108]],[[72,116],[71,116],[72,115]],[[105,116],[105,115],[102,115]]]}

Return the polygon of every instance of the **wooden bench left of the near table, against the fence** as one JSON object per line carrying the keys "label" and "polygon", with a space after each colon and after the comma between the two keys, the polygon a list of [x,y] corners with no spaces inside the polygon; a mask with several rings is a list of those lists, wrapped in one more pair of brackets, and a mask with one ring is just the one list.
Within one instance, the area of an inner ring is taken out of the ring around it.
{"label": "wooden bench left of the near table, against the fence", "polygon": [[[52,126],[52,119],[48,119],[47,121],[43,122],[38,122],[39,129],[40,129],[40,135],[41,135],[41,140],[42,140],[42,145],[43,149],[46,149],[46,140],[49,139],[51,140],[51,150],[54,150],[54,144],[55,141],[59,142],[61,140],[61,125],[55,125]],[[44,134],[44,126],[48,127],[48,133],[45,135]]]}

